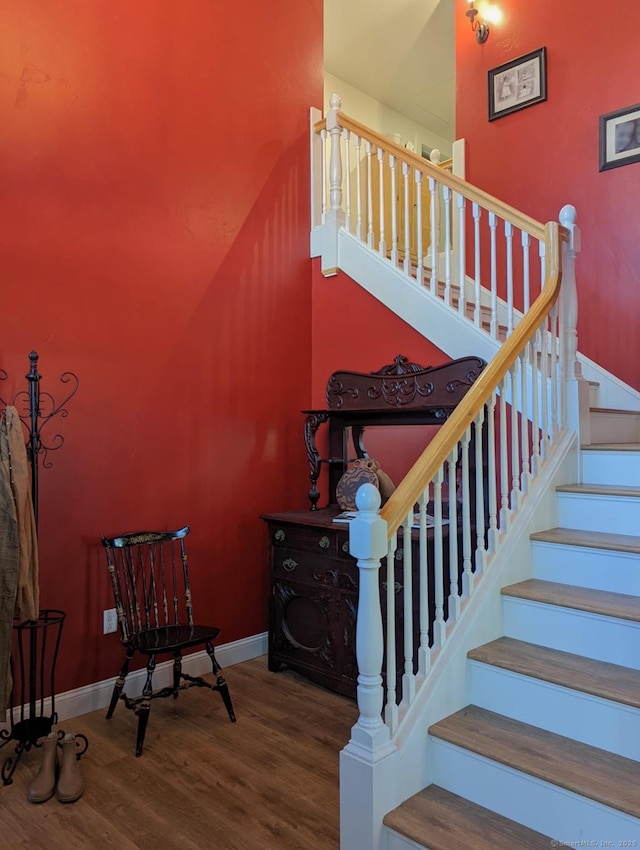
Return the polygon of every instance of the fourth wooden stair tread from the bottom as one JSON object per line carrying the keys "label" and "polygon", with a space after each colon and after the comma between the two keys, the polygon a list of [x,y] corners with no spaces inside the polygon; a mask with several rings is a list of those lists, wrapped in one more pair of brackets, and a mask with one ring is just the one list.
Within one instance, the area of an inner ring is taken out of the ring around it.
{"label": "fourth wooden stair tread from the bottom", "polygon": [[546,605],[559,605],[578,611],[588,611],[604,617],[633,620],[640,623],[640,597],[609,590],[593,590],[573,584],[559,584],[532,578],[500,589],[503,596],[529,599]]}

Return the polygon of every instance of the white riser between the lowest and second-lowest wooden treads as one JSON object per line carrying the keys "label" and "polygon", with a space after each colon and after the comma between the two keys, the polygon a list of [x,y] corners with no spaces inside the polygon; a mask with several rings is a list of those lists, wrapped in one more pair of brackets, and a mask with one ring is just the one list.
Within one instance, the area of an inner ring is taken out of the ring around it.
{"label": "white riser between the lowest and second-lowest wooden treads", "polygon": [[639,834],[637,818],[446,741],[430,737],[428,746],[436,785],[544,835],[565,842],[606,835],[617,847]]}

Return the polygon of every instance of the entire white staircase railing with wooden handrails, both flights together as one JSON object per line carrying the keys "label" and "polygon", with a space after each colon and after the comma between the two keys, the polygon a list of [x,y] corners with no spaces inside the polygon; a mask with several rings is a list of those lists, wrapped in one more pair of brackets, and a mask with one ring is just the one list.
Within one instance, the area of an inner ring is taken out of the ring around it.
{"label": "entire white staircase railing with wooden handrails, both flights together", "polygon": [[331,105],[312,123],[323,271],[339,268],[346,231],[503,340],[382,510],[377,490],[361,488],[350,525],[360,716],[341,754],[341,846],[376,850],[414,706],[555,447],[586,418],[579,231],[573,207],[543,225],[343,115],[335,96]]}

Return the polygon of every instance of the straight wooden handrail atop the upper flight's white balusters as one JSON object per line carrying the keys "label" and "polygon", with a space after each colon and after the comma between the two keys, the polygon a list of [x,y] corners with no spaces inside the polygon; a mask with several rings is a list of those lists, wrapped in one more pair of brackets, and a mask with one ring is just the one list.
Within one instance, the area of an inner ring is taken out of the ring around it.
{"label": "straight wooden handrail atop the upper flight's white balusters", "polygon": [[[487,192],[483,192],[482,189],[478,189],[476,186],[472,186],[470,183],[467,183],[462,178],[456,177],[454,174],[441,169],[439,166],[434,165],[429,162],[429,160],[419,156],[417,153],[413,153],[412,151],[402,147],[402,145],[392,142],[390,139],[385,138],[375,130],[371,130],[369,127],[366,127],[354,118],[350,118],[348,115],[345,115],[344,112],[338,112],[337,119],[340,127],[343,129],[350,130],[366,141],[372,142],[376,145],[376,147],[382,148],[387,153],[393,154],[393,156],[397,156],[402,162],[409,163],[409,165],[412,165],[418,171],[426,174],[427,177],[435,177],[438,182],[443,184],[443,186],[448,186],[454,192],[464,195],[468,200],[479,204],[481,207],[488,209],[491,212],[494,212],[500,218],[509,221],[514,225],[514,227],[518,227],[520,230],[526,231],[540,241],[544,239],[544,225],[539,221],[536,221],[536,219],[530,218],[528,215],[524,215],[524,213],[515,209],[515,207],[511,207],[509,204],[503,203],[498,198],[494,198],[493,195],[489,195]],[[313,125],[314,132],[319,133],[320,130],[325,130],[326,126],[326,118],[323,118],[321,121],[316,121]],[[565,238],[564,235],[563,238]],[[568,235],[566,238],[568,238]]]}

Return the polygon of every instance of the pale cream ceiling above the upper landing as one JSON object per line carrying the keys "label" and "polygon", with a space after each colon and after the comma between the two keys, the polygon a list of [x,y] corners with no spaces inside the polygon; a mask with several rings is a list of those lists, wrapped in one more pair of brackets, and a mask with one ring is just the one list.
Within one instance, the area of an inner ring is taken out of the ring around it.
{"label": "pale cream ceiling above the upper landing", "polygon": [[325,69],[455,138],[454,0],[324,0]]}

